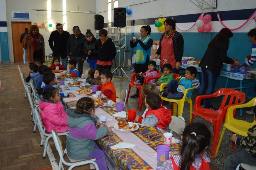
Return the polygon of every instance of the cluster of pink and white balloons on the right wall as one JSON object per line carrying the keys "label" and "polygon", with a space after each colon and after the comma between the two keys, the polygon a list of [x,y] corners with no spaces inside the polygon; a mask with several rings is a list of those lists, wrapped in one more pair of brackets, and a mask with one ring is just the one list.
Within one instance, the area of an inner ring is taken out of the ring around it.
{"label": "cluster of pink and white balloons on the right wall", "polygon": [[212,30],[212,25],[210,23],[211,20],[212,20],[212,16],[209,14],[205,15],[204,17],[203,16],[199,17],[198,20],[196,21],[196,26],[198,27],[197,31],[199,33],[202,33],[204,31],[210,32]]}

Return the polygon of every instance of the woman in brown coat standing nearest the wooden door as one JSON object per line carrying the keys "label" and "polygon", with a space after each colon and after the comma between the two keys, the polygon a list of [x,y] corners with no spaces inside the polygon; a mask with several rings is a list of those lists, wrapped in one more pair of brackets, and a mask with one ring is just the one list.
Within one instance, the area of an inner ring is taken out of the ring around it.
{"label": "woman in brown coat standing nearest the wooden door", "polygon": [[44,37],[36,25],[31,25],[29,33],[24,37],[22,46],[27,50],[27,61],[33,64],[35,59],[45,62]]}

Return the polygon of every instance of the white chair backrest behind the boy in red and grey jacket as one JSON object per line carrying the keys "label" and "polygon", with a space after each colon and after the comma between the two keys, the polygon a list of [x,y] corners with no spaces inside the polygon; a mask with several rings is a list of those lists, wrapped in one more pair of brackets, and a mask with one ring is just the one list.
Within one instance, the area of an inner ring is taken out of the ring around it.
{"label": "white chair backrest behind the boy in red and grey jacket", "polygon": [[186,126],[185,119],[182,116],[179,116],[179,117],[172,116],[172,121],[169,124],[169,129],[171,130],[171,133],[174,131],[178,135],[182,135],[185,126]]}

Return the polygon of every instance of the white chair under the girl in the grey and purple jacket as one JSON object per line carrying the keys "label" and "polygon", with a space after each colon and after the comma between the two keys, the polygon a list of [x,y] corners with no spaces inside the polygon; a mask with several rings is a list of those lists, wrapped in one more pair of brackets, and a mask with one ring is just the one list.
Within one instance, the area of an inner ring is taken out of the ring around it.
{"label": "white chair under the girl in the grey and purple jacket", "polygon": [[[99,167],[98,167],[97,163],[95,162],[96,161],[95,158],[87,159],[87,160],[84,160],[84,159],[76,160],[76,159],[72,159],[72,158],[68,157],[68,159],[69,159],[69,161],[71,163],[66,162],[64,160],[63,156],[65,154],[67,154],[67,149],[63,148],[62,142],[61,142],[61,140],[60,140],[58,135],[56,134],[56,132],[54,130],[52,130],[53,141],[54,141],[55,147],[56,147],[56,149],[57,149],[57,151],[59,153],[59,156],[60,156],[60,163],[59,163],[58,170],[60,170],[60,169],[64,170],[64,167],[63,167],[62,163],[64,165],[70,166],[68,168],[68,170],[71,170],[71,169],[73,169],[76,166],[81,166],[81,165],[86,165],[86,164],[93,164],[94,167],[96,168],[96,170],[99,170]],[[68,156],[68,154],[67,154],[67,156]]]}

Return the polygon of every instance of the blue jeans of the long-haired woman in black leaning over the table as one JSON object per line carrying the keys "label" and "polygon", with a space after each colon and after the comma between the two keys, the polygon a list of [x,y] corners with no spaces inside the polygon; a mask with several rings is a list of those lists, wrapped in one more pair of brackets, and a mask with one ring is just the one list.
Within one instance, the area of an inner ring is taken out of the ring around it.
{"label": "blue jeans of the long-haired woman in black leaning over the table", "polygon": [[[212,94],[214,92],[217,79],[218,76],[216,74],[202,68],[202,85],[199,90],[199,95],[204,95],[206,88],[208,88],[206,91],[206,95]],[[211,98],[205,99],[205,107],[211,106],[211,100]]]}

